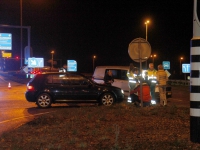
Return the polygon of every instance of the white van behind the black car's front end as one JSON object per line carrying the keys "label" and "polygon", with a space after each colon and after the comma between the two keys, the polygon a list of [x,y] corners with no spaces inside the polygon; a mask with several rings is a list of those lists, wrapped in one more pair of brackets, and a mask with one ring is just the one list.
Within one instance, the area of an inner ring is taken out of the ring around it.
{"label": "white van behind the black car's front end", "polygon": [[112,86],[119,87],[124,90],[124,94],[129,95],[127,71],[129,66],[97,66],[93,73],[92,79],[99,84],[104,84],[104,76],[108,70],[112,71],[114,83]]}

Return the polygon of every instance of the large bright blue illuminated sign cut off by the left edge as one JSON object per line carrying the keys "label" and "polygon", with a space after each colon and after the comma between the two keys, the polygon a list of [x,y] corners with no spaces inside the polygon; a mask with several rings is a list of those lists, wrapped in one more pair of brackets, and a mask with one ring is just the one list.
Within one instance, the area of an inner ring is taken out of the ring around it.
{"label": "large bright blue illuminated sign cut off by the left edge", "polygon": [[11,33],[0,33],[0,50],[12,50]]}

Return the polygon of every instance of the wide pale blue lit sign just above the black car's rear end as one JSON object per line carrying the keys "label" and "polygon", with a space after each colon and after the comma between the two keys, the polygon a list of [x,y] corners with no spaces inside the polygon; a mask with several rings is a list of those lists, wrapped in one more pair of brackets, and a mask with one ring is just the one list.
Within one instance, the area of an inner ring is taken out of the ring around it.
{"label": "wide pale blue lit sign just above the black car's rear end", "polygon": [[44,58],[28,58],[28,67],[29,68],[43,68],[44,67]]}

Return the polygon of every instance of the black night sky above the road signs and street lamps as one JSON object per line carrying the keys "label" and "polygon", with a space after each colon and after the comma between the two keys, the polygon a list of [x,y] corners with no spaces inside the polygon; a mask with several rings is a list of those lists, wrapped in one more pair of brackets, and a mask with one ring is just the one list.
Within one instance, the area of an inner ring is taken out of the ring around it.
{"label": "black night sky above the road signs and street lamps", "polygon": [[[34,57],[73,59],[78,71],[92,72],[95,65],[129,65],[128,45],[144,38],[156,54],[155,66],[170,61],[179,71],[180,57],[190,63],[193,34],[193,0],[23,0],[23,26],[31,26]],[[0,1],[0,24],[20,25],[20,0]],[[20,55],[20,29],[0,28],[13,35],[13,56]],[[23,47],[27,31],[23,30]],[[148,59],[148,63],[152,58]]]}

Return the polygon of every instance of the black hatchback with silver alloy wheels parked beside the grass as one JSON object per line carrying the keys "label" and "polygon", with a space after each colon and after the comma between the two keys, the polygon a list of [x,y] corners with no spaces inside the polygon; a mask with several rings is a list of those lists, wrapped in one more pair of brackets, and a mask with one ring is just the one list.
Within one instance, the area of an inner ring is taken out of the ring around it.
{"label": "black hatchback with silver alloy wheels parked beside the grass", "polygon": [[25,97],[47,108],[52,103],[96,102],[110,106],[124,99],[122,89],[97,84],[82,74],[74,72],[49,72],[37,74],[27,84]]}

